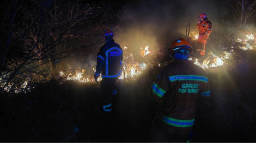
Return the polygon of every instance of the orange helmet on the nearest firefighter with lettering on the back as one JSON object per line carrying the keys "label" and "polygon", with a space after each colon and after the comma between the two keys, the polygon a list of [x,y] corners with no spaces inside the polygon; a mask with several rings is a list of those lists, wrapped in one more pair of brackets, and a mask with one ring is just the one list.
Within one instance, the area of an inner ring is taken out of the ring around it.
{"label": "orange helmet on the nearest firefighter with lettering on the back", "polygon": [[[193,53],[192,46],[190,42],[185,40],[185,38],[179,38],[178,40],[175,40],[172,44],[172,46],[169,48],[169,53],[171,55],[174,55],[175,53],[184,53],[184,49],[188,49],[189,53]],[[186,53],[184,53],[186,54]]]}

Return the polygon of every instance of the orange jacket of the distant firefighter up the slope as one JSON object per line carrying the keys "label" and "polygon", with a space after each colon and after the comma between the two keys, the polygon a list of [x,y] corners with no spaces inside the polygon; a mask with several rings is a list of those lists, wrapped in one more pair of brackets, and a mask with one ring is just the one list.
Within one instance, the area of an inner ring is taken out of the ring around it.
{"label": "orange jacket of the distant firefighter up the slope", "polygon": [[197,29],[199,29],[198,42],[206,43],[212,30],[212,24],[208,19],[197,23]]}

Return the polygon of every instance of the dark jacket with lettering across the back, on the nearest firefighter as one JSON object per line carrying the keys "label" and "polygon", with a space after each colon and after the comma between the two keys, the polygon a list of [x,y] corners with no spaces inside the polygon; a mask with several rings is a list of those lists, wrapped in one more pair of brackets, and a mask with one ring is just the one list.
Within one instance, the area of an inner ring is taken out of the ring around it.
{"label": "dark jacket with lettering across the back, on the nearest firefighter", "polygon": [[208,74],[189,60],[174,61],[161,70],[153,93],[162,101],[155,120],[171,132],[187,133],[194,124],[196,100],[210,96]]}

